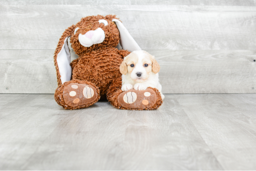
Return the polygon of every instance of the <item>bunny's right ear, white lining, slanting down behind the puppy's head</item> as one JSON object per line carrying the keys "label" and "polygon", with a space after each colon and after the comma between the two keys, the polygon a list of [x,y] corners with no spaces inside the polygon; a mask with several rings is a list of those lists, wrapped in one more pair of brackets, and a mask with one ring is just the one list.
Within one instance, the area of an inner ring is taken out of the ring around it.
{"label": "bunny's right ear, white lining, slanting down behind the puppy's head", "polygon": [[116,26],[119,30],[121,47],[124,50],[128,50],[130,52],[141,50],[138,43],[131,37],[130,33],[125,28],[123,23],[118,19],[113,19],[112,21],[116,23]]}

